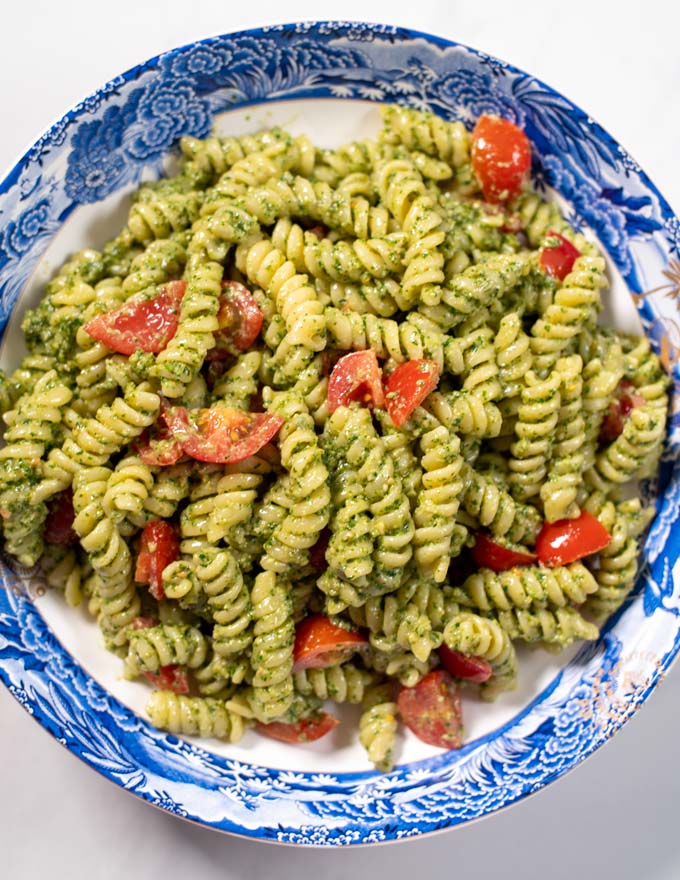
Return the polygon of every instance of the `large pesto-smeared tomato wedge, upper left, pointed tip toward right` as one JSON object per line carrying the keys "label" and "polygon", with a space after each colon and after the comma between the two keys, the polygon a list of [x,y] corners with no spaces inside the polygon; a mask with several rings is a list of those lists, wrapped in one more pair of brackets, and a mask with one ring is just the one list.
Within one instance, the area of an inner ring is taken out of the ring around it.
{"label": "large pesto-smeared tomato wedge, upper left, pointed tip toward right", "polygon": [[156,296],[124,303],[97,315],[83,329],[112,351],[131,355],[141,349],[158,354],[177,332],[186,281],[171,281]]}

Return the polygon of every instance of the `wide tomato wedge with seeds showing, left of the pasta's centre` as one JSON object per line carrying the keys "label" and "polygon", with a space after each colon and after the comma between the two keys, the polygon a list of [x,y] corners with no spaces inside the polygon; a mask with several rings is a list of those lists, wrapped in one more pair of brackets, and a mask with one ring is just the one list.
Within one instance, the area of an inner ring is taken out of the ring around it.
{"label": "wide tomato wedge with seeds showing, left of the pasta's centre", "polygon": [[283,425],[281,416],[273,413],[244,412],[230,406],[191,411],[173,406],[163,418],[187,455],[221,464],[235,464],[254,455]]}

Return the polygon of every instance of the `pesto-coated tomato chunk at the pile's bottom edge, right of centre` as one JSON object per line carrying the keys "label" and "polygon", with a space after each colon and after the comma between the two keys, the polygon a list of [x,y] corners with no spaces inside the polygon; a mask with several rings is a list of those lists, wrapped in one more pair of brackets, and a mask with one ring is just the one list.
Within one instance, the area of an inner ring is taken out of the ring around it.
{"label": "pesto-coated tomato chunk at the pile's bottom edge, right of centre", "polygon": [[415,687],[399,691],[397,706],[418,739],[441,749],[463,745],[463,714],[458,687],[445,669],[435,669]]}

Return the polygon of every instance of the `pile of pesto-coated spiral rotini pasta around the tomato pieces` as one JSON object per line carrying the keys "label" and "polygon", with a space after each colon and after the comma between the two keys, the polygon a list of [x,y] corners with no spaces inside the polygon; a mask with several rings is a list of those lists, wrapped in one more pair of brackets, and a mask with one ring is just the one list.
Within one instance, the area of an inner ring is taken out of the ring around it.
{"label": "pile of pesto-coated spiral rotini pasta around the tomato pieces", "polygon": [[[625,486],[655,471],[666,377],[645,338],[598,325],[605,262],[555,204],[529,188],[484,200],[460,122],[386,106],[374,139],[339,149],[278,128],[180,147],[179,172],[140,186],[120,234],[69,259],[24,320],[28,354],[0,389],[5,552],[86,605],[126,675],[190,671],[189,693],[153,692],[154,725],[235,742],[349,702],[389,769],[395,688],[435,669],[443,645],[490,665],[468,685],[490,699],[514,686],[517,643],[595,639],[622,604],[652,513]],[[539,260],[555,233],[579,251],[563,279]],[[122,355],[84,330],[176,279],[160,353]],[[211,357],[225,279],[264,316],[226,360]],[[401,426],[362,401],[329,413],[333,364],[364,349],[386,376],[438,366]],[[603,440],[622,380],[637,403]],[[237,463],[149,466],[138,441],[167,405],[264,409],[283,425]],[[77,543],[50,543],[69,492]],[[611,535],[594,558],[501,572],[472,560],[480,532],[530,551],[544,522],[581,511]],[[180,542],[160,599],[135,581],[156,520]],[[310,615],[366,644],[294,671]]]}

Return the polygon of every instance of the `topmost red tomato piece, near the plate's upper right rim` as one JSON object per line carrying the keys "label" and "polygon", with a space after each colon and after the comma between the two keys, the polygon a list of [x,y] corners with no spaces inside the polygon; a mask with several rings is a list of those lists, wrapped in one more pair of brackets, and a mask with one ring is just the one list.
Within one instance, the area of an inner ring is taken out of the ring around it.
{"label": "topmost red tomato piece, near the plate's upper right rim", "polygon": [[480,116],[472,132],[472,170],[488,202],[507,202],[529,176],[531,145],[521,128],[500,116]]}

